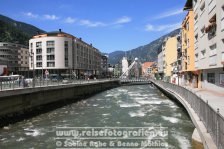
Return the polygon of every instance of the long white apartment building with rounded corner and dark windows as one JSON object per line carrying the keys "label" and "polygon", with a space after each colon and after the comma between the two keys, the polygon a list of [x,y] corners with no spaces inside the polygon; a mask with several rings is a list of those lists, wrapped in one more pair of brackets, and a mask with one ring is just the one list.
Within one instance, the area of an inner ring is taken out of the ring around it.
{"label": "long white apartment building with rounded corner and dark windows", "polygon": [[36,76],[49,74],[72,74],[77,78],[99,75],[101,53],[98,49],[62,32],[48,32],[33,36],[29,40],[31,59],[30,69],[34,69]]}

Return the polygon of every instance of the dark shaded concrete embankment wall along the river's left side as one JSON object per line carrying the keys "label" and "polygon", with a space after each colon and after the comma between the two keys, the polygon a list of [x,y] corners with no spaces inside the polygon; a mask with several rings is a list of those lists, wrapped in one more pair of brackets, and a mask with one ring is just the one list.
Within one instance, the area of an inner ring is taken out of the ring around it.
{"label": "dark shaded concrete embankment wall along the river's left side", "polygon": [[[70,84],[26,88],[0,92],[0,125],[4,120],[29,112],[52,103],[75,102],[101,91],[119,86],[118,80],[89,82],[85,84]],[[58,106],[58,105],[57,105]],[[56,107],[57,107],[56,106]],[[9,117],[9,118],[8,118]],[[10,120],[9,120],[10,123]]]}

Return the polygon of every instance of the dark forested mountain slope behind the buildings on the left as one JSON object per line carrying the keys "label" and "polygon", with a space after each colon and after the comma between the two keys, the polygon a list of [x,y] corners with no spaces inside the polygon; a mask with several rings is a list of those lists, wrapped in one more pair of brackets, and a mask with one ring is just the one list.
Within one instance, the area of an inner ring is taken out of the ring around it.
{"label": "dark forested mountain slope behind the buildings on the left", "polygon": [[16,29],[22,31],[23,33],[27,34],[30,37],[36,35],[37,31],[39,31],[40,33],[45,33],[45,31],[43,31],[33,25],[15,21],[15,20],[8,18],[6,16],[3,16],[3,15],[0,15],[0,21],[5,22],[5,23],[15,27]]}

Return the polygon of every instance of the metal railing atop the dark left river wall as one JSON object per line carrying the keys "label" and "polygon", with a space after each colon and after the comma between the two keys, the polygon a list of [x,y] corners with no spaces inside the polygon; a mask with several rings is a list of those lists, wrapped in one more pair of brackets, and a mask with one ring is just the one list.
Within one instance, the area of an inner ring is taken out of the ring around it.
{"label": "metal railing atop the dark left river wall", "polygon": [[41,80],[35,79],[33,81],[0,81],[0,91],[15,90],[15,89],[26,89],[36,87],[48,87],[48,86],[61,86],[61,85],[72,85],[72,84],[87,84],[96,82],[105,82],[109,80],[118,79],[68,79],[68,80]]}

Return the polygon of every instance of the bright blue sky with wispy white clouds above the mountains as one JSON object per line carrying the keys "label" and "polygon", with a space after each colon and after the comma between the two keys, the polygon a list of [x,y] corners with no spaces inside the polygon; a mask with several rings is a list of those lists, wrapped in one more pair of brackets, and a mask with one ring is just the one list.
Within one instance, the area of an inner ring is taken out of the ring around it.
{"label": "bright blue sky with wispy white clouds above the mountains", "polygon": [[62,31],[101,52],[127,51],[180,28],[186,0],[0,0],[0,14]]}

